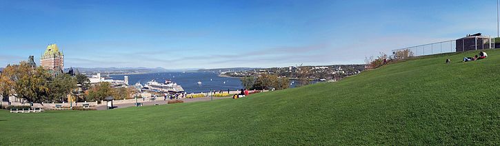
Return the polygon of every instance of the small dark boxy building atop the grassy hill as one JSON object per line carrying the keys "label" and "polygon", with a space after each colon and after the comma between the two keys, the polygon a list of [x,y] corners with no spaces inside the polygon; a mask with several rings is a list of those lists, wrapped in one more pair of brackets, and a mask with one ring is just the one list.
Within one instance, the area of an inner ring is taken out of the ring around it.
{"label": "small dark boxy building atop the grassy hill", "polygon": [[467,35],[466,37],[457,39],[456,52],[463,52],[469,50],[483,50],[494,48],[494,43],[490,43],[490,37],[481,36],[480,33]]}

